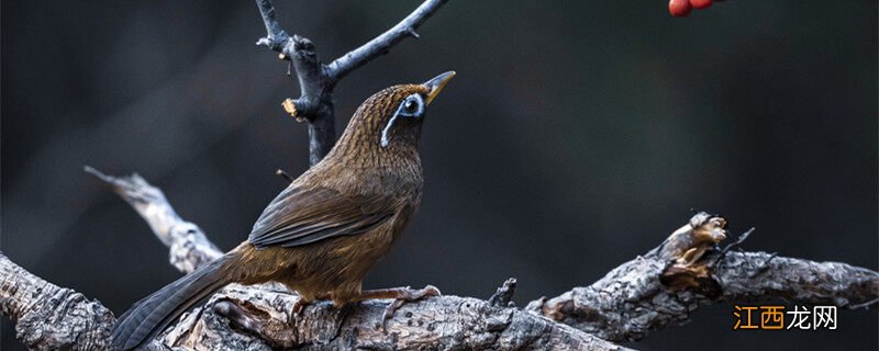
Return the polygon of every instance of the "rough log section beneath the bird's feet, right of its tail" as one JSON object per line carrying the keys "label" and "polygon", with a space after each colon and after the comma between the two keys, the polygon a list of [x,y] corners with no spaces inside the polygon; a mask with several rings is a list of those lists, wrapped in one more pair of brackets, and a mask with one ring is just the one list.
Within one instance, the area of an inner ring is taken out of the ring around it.
{"label": "rough log section beneath the bird's feet, right of its tail", "polygon": [[205,350],[627,350],[514,307],[471,297],[405,304],[383,329],[389,301],[342,309],[319,303],[294,315],[297,298],[272,286],[233,284],[160,339],[171,348]]}

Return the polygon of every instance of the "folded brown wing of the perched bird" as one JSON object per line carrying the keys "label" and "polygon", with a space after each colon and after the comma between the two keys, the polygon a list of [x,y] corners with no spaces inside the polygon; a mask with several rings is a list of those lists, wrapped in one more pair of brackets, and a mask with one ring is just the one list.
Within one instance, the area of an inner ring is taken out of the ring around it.
{"label": "folded brown wing of the perched bird", "polygon": [[368,231],[392,215],[392,201],[383,196],[290,186],[263,211],[247,240],[257,249],[301,246]]}

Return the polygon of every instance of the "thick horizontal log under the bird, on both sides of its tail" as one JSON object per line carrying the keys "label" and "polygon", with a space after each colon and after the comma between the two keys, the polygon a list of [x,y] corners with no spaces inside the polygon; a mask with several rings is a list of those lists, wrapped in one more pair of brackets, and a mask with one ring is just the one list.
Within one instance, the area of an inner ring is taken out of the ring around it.
{"label": "thick horizontal log under the bird, on both sides of its tail", "polygon": [[[566,325],[470,297],[403,305],[385,322],[388,301],[296,315],[298,296],[278,284],[232,284],[183,316],[148,350],[469,349],[626,350]],[[113,314],[99,302],[48,283],[0,253],[0,313],[31,350],[112,350]]]}

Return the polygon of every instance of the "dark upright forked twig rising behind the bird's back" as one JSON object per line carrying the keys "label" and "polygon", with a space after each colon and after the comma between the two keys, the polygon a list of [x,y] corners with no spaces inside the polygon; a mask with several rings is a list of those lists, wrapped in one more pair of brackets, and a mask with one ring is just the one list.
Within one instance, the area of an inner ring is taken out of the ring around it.
{"label": "dark upright forked twig rising behind the bird's back", "polygon": [[353,70],[386,54],[404,37],[418,37],[415,30],[446,1],[448,0],[424,1],[414,12],[387,32],[330,65],[323,65],[318,57],[314,43],[299,35],[290,36],[281,29],[270,0],[256,0],[267,33],[256,44],[279,53],[279,58],[290,60],[296,70],[300,97],[287,99],[282,105],[298,122],[309,123],[309,162],[312,166],[323,159],[335,145],[333,89],[336,83]]}

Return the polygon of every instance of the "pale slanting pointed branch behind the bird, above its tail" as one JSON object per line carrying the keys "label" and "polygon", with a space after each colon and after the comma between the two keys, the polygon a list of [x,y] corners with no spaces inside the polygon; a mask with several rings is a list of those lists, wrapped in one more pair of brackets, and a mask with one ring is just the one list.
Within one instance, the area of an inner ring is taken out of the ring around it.
{"label": "pale slanting pointed branch behind the bird, above its tail", "polygon": [[137,211],[156,237],[170,248],[170,263],[181,272],[192,272],[199,265],[223,256],[199,226],[180,218],[162,190],[147,183],[141,176],[135,173],[116,178],[88,166],[85,170],[112,186],[122,200]]}

